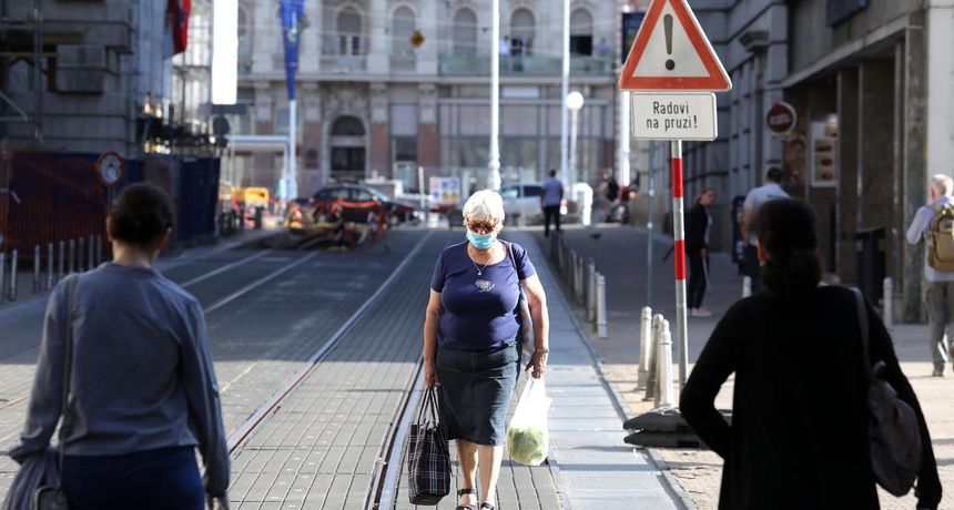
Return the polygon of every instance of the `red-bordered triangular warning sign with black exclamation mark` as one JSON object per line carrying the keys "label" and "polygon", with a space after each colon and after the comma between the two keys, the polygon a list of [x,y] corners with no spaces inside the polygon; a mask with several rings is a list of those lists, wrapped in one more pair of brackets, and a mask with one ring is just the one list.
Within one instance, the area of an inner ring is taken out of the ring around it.
{"label": "red-bordered triangular warning sign with black exclamation mark", "polygon": [[732,81],[686,0],[652,0],[619,76],[620,90],[727,91]]}

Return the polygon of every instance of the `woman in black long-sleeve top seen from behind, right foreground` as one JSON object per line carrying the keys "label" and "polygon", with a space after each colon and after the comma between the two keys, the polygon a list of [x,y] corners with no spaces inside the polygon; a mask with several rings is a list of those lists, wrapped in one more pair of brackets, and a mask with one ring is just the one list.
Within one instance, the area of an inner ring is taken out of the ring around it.
{"label": "woman in black long-sleeve top seen from behind, right foreground", "polygon": [[[725,461],[719,508],[877,509],[855,295],[818,286],[815,216],[805,203],[762,206],[759,239],[768,292],[725,313],[680,400],[686,420]],[[867,316],[871,359],[885,361],[884,379],[917,414],[917,508],[936,509],[941,482],[924,416],[881,318],[870,306]],[[713,401],[733,373],[730,426]]]}

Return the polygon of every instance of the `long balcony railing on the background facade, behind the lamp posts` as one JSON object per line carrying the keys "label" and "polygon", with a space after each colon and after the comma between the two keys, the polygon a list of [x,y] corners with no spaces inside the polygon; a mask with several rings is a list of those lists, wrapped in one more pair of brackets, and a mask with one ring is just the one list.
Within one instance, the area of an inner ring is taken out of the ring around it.
{"label": "long balcony railing on the background facade, behind the lamp posts", "polygon": [[[500,55],[500,75],[504,76],[559,76],[562,65],[559,57]],[[445,76],[489,76],[490,55],[442,55],[439,72]],[[613,72],[612,59],[570,57],[572,75],[607,76]]]}

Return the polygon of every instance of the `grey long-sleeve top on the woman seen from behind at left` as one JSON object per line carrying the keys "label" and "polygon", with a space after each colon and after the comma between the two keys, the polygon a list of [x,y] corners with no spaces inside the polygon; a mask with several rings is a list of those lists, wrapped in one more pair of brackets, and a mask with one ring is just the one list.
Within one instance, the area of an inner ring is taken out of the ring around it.
{"label": "grey long-sleeve top on the woman seen from behind at left", "polygon": [[[61,415],[67,280],[50,295],[18,461],[42,451]],[[229,487],[219,385],[199,302],[158,272],[103,264],[79,276],[65,455],[199,446],[205,491]]]}

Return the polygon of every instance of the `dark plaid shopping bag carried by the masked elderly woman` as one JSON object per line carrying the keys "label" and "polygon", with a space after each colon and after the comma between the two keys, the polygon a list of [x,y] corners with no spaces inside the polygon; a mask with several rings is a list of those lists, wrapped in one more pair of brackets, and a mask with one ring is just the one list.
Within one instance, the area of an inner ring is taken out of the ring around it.
{"label": "dark plaid shopping bag carried by the masked elderly woman", "polygon": [[407,445],[408,498],[413,504],[437,504],[450,492],[450,451],[437,416],[437,390],[428,388]]}

